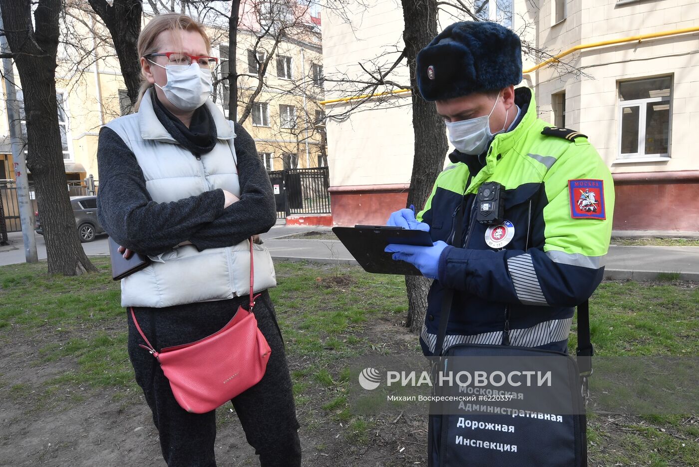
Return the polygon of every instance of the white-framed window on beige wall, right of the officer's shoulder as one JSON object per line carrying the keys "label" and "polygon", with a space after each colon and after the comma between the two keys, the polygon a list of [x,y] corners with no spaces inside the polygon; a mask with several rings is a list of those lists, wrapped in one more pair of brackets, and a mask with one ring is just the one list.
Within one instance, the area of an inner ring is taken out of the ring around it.
{"label": "white-framed window on beige wall, right of the officer's shoulder", "polygon": [[619,82],[619,157],[670,157],[672,78]]}

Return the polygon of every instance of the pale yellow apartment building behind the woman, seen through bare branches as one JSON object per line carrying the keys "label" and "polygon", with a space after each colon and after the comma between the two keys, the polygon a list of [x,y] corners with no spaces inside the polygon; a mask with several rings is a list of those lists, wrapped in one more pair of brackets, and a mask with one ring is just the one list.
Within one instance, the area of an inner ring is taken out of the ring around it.
{"label": "pale yellow apartment building behind the woman, seen through bare branches", "polygon": [[[143,24],[149,19],[145,15]],[[74,55],[64,50],[59,52],[57,69],[57,99],[60,103],[59,123],[66,179],[76,185],[89,175],[98,178],[96,151],[100,127],[130,111],[115,52],[99,39],[108,32],[101,30],[99,24],[88,15],[84,20],[85,24],[94,25],[92,31],[83,31],[86,43],[82,44],[87,50],[93,50],[92,57],[76,65]],[[308,22],[319,31],[319,14],[315,17],[308,15]],[[206,21],[205,24],[212,38],[212,55],[219,57],[215,74],[216,78],[220,78],[229,66],[228,33],[225,28],[216,27],[215,24]],[[254,69],[257,62],[251,59],[251,51],[257,50],[258,57],[264,59],[274,46],[274,41],[267,38],[259,41],[257,48],[256,42],[254,25],[238,31],[238,73],[257,74]],[[269,171],[327,165],[322,106],[317,103],[324,99],[322,73],[319,34],[308,34],[299,39],[284,38],[276,44],[264,85],[254,98],[250,116],[243,123],[257,141],[257,149]],[[18,85],[17,97],[22,105],[21,83],[16,69],[15,81]],[[257,87],[257,80],[253,78],[240,78],[238,83],[239,100],[243,101]],[[2,89],[0,180],[13,180],[4,82]],[[216,103],[225,115],[229,114],[228,92],[224,85],[219,84],[214,94]],[[237,115],[242,115],[243,110],[244,106],[239,106]],[[31,182],[31,173],[29,180]]]}

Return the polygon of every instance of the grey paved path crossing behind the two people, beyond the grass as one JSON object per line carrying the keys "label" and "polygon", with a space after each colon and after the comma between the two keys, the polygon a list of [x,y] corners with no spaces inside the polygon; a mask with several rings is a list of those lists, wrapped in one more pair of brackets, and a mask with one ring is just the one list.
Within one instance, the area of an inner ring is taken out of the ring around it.
{"label": "grey paved path crossing behind the two people, beyond the grass", "polygon": [[[356,264],[356,261],[338,240],[310,240],[285,238],[308,231],[329,231],[328,227],[273,227],[262,235],[265,244],[276,259],[315,261],[319,263]],[[24,262],[22,234],[9,234],[10,245],[0,246],[0,265]],[[94,242],[83,243],[89,255],[108,254],[107,236]],[[39,259],[46,258],[43,237],[36,236]],[[699,282],[699,247],[655,247],[612,245],[607,254],[605,278],[654,280],[658,273],[677,273],[679,279]]]}

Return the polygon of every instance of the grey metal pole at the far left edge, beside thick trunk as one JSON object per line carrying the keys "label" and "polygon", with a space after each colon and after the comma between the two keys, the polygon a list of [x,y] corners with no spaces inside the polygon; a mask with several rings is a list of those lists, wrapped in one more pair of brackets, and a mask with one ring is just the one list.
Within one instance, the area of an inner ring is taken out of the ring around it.
{"label": "grey metal pole at the far left edge, beside thick trunk", "polygon": [[[0,12],[0,30],[4,30],[2,12]],[[0,52],[9,54],[10,48],[4,34],[0,36]],[[31,199],[29,199],[29,181],[27,180],[27,159],[22,150],[22,122],[20,121],[20,109],[17,105],[17,92],[15,92],[15,71],[12,69],[12,59],[3,58],[3,73],[5,74],[7,120],[10,128],[10,142],[12,143],[12,157],[14,159],[13,171],[17,186],[17,203],[20,205],[20,224],[22,225],[22,239],[24,240],[24,258],[27,263],[38,262],[36,254],[36,238],[34,236],[34,212]],[[0,213],[0,215],[4,215]]]}

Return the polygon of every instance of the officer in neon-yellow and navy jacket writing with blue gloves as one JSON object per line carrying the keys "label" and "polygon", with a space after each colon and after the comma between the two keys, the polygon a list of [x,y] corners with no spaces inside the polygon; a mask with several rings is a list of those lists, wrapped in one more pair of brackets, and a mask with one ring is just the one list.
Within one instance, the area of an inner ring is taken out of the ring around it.
{"label": "officer in neon-yellow and navy jacket writing with blue gloves", "polygon": [[[435,279],[420,343],[435,352],[445,288],[454,289],[444,348],[455,343],[567,351],[574,307],[603,278],[612,176],[587,137],[540,120],[521,81],[521,45],[493,22],[457,22],[417,55],[420,94],[435,101],[456,150],[417,217],[431,247],[388,245]],[[586,194],[588,193],[588,194]],[[596,201],[596,210],[579,199]],[[463,210],[462,236],[454,238]]]}

